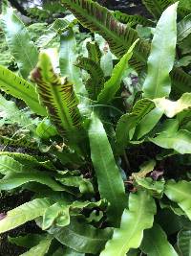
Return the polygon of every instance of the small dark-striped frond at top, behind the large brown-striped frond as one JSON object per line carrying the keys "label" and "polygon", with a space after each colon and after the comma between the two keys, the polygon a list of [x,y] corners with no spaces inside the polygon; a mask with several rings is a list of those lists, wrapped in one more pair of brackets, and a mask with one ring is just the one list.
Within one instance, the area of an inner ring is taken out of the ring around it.
{"label": "small dark-striped frond at top, behind the large brown-striped frond", "polygon": [[136,25],[142,25],[145,27],[149,27],[149,26],[153,26],[154,22],[150,19],[147,19],[143,16],[140,15],[128,15],[126,13],[122,13],[119,11],[116,11],[113,13],[114,16],[117,18],[118,21],[124,23],[124,24],[128,24],[131,27],[134,27]]}

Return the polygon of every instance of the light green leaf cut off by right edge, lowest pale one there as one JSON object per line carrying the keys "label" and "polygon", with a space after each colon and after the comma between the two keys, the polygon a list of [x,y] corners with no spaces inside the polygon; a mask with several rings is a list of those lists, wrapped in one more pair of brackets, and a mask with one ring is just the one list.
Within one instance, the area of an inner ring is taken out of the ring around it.
{"label": "light green leaf cut off by right edge, lowest pale one there", "polygon": [[180,180],[169,180],[166,183],[164,194],[173,201],[176,201],[180,208],[191,220],[191,182]]}

